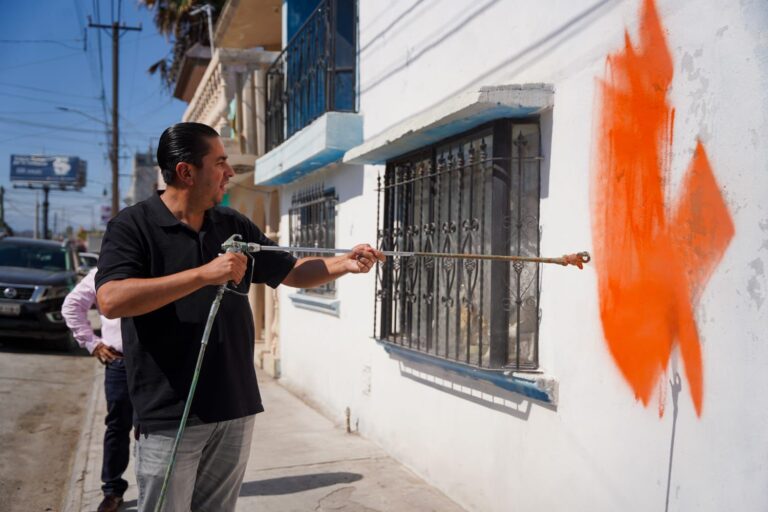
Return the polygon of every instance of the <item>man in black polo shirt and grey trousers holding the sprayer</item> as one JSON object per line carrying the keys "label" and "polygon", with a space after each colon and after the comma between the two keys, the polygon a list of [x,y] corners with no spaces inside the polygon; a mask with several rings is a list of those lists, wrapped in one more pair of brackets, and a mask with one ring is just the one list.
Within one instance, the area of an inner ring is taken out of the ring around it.
{"label": "man in black polo shirt and grey trousers holding the sprayer", "polygon": [[[246,275],[242,254],[220,255],[231,235],[273,244],[250,220],[218,207],[234,175],[212,128],[171,126],[157,161],[167,189],[121,211],[107,227],[96,276],[102,313],[122,318],[135,408],[139,511],[152,510],[189,391],[218,285]],[[254,255],[253,282],[311,288],[368,272],[384,256],[367,244],[332,258]],[[166,511],[234,510],[250,452],[253,415],[263,411],[253,367],[248,300],[225,294],[210,335]]]}

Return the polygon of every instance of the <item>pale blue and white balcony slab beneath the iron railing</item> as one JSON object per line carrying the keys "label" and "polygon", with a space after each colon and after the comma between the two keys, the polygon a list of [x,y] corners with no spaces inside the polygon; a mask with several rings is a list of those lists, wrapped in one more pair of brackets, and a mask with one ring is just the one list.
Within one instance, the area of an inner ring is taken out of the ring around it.
{"label": "pale blue and white balcony slab beneath the iron railing", "polygon": [[363,141],[363,117],[326,112],[256,160],[256,185],[285,185],[341,160]]}

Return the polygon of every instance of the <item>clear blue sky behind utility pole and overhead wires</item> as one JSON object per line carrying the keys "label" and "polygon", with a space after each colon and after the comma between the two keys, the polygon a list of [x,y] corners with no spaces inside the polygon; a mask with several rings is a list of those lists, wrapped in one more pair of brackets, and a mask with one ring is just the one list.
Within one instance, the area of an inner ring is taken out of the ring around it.
{"label": "clear blue sky behind utility pole and overhead wires", "polygon": [[[104,122],[111,122],[112,42],[104,30],[87,28],[113,17],[141,32],[120,41],[120,195],[128,191],[132,155],[156,144],[162,131],[181,120],[186,103],[170,96],[149,66],[165,56],[170,43],[137,0],[30,0],[3,2],[0,16],[0,185],[5,218],[14,230],[32,229],[35,192],[14,189],[9,180],[12,154],[77,156],[88,162],[88,185],[80,192],[51,191],[54,213],[75,229],[100,226],[101,205],[110,204],[111,169]],[[83,32],[87,30],[87,51]],[[99,59],[101,39],[101,64]],[[53,42],[23,42],[53,41]],[[103,72],[102,72],[103,68]],[[106,113],[99,99],[106,94]],[[57,107],[82,111],[63,112]],[[101,120],[99,122],[98,120]],[[107,196],[103,196],[104,189]],[[39,192],[42,202],[42,192]],[[122,206],[121,201],[121,206]]]}

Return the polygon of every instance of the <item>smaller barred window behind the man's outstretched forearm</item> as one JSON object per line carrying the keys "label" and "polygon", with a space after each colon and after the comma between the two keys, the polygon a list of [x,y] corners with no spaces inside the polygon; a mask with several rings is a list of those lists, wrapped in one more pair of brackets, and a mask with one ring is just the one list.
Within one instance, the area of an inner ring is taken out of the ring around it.
{"label": "smaller barred window behind the man's outstretched forearm", "polygon": [[[336,246],[336,203],[334,189],[323,185],[302,190],[291,198],[289,230],[291,245],[298,247],[333,248]],[[312,256],[312,254],[306,254]],[[332,297],[336,285],[330,283],[303,290],[305,293]]]}

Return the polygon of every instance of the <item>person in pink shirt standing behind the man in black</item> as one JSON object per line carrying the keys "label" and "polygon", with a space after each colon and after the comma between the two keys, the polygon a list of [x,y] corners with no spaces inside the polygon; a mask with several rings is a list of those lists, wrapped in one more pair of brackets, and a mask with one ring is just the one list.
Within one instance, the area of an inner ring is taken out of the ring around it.
{"label": "person in pink shirt standing behind the man in black", "polygon": [[120,319],[110,320],[101,315],[101,337],[93,332],[88,311],[96,303],[96,287],[92,269],[64,299],[61,314],[77,343],[105,365],[104,393],[107,417],[104,421],[104,458],[101,465],[101,486],[104,500],[98,512],[118,510],[128,482],[122,478],[130,456],[130,434],[133,406],[128,397],[128,380],[123,359],[123,339]]}

